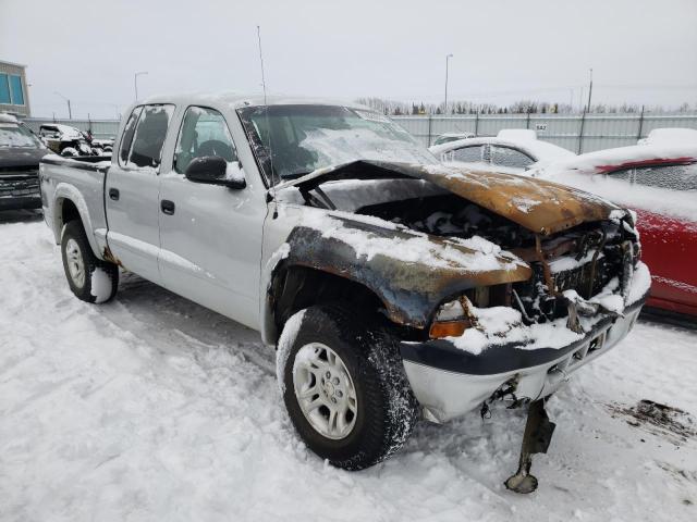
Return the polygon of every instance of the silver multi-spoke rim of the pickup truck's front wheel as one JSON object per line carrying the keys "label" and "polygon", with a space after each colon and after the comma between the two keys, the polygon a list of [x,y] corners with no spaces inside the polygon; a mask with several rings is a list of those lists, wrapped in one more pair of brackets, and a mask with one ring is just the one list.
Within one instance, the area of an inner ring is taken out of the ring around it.
{"label": "silver multi-spoke rim of the pickup truck's front wheel", "polygon": [[334,350],[321,343],[297,350],[293,385],[305,419],[320,435],[339,440],[351,434],[358,399],[351,374]]}

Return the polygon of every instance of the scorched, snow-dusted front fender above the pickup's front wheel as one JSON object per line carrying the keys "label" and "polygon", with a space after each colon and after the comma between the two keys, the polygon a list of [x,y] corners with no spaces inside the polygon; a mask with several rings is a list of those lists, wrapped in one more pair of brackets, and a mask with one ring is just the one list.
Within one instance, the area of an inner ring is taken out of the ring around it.
{"label": "scorched, snow-dusted front fender above the pickup's front wheel", "polygon": [[359,283],[380,298],[393,322],[416,328],[426,327],[449,297],[531,275],[526,263],[484,239],[444,239],[362,217],[326,215],[299,224],[272,270],[305,266]]}

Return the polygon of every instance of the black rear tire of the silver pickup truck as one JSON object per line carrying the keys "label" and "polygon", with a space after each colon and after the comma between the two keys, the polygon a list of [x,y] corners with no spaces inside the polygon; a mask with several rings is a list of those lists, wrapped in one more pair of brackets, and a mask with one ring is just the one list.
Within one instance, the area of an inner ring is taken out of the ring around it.
{"label": "black rear tire of the silver pickup truck", "polygon": [[[71,221],[65,225],[61,238],[61,257],[68,284],[75,297],[83,301],[98,303],[107,302],[117,295],[119,266],[97,259],[80,221]],[[69,257],[75,257],[82,261],[82,278],[71,273]]]}

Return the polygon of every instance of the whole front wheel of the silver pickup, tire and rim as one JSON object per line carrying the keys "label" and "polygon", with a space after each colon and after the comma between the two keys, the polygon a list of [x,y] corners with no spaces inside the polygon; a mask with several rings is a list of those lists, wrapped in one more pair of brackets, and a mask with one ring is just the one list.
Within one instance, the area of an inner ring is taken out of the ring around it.
{"label": "whole front wheel of the silver pickup, tire and rim", "polygon": [[279,341],[291,421],[315,453],[346,470],[400,449],[417,419],[396,344],[370,323],[343,307],[310,307],[288,321]]}

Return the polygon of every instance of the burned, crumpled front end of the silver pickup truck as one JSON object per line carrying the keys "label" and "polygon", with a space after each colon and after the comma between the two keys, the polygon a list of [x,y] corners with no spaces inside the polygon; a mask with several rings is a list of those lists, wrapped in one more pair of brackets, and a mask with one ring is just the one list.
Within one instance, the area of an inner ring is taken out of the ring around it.
{"label": "burned, crumpled front end of the silver pickup truck", "polygon": [[545,399],[624,338],[646,300],[633,214],[568,187],[441,165],[358,161],[291,186],[323,212],[291,232],[283,269],[376,296],[427,420],[484,414],[497,399],[528,407],[506,485],[533,490],[529,456],[553,427]]}

